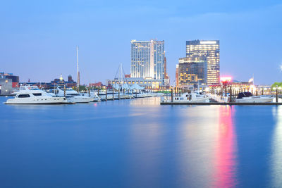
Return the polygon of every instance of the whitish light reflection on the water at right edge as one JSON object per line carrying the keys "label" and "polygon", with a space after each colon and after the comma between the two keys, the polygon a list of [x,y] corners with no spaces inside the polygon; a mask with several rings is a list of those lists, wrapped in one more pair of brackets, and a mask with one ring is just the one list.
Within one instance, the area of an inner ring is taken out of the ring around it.
{"label": "whitish light reflection on the water at right edge", "polygon": [[282,106],[273,107],[273,115],[276,119],[274,135],[271,142],[271,185],[269,187],[281,187],[282,185]]}

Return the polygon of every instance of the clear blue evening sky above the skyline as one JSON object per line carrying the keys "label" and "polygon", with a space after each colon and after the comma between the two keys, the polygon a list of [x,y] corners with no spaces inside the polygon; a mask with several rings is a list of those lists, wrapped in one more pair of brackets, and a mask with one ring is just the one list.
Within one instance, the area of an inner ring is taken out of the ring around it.
{"label": "clear blue evening sky above the skyline", "polygon": [[189,39],[219,39],[221,75],[257,84],[282,81],[282,2],[2,1],[0,72],[20,81],[75,80],[80,46],[83,83],[114,78],[119,63],[130,73],[130,40],[165,41],[168,75]]}

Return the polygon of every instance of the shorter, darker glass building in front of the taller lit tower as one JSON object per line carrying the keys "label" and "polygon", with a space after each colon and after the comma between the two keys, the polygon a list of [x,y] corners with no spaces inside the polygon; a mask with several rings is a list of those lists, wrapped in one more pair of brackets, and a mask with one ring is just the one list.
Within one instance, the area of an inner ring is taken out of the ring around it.
{"label": "shorter, darker glass building in front of the taller lit tower", "polygon": [[207,58],[179,58],[178,84],[193,85],[207,83]]}

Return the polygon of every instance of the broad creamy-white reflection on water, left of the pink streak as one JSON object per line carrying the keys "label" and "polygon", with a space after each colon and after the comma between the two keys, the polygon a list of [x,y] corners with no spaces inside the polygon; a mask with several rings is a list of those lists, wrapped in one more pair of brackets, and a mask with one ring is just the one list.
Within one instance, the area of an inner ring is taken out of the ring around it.
{"label": "broad creamy-white reflection on water, left of the pink streak", "polygon": [[178,182],[186,187],[210,187],[214,174],[219,106],[181,108],[179,125],[175,126]]}

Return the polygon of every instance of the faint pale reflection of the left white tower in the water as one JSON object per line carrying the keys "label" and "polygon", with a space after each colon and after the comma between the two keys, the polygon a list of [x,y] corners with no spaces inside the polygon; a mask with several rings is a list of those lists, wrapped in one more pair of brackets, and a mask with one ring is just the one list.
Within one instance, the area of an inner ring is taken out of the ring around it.
{"label": "faint pale reflection of the left white tower in the water", "polygon": [[[164,123],[160,106],[145,108],[141,104],[158,101],[154,98],[133,99],[130,101],[130,127],[128,158],[125,166],[128,171],[128,187],[160,187],[160,158],[164,150]],[[129,107],[130,107],[129,106]],[[140,108],[139,108],[140,107]]]}

